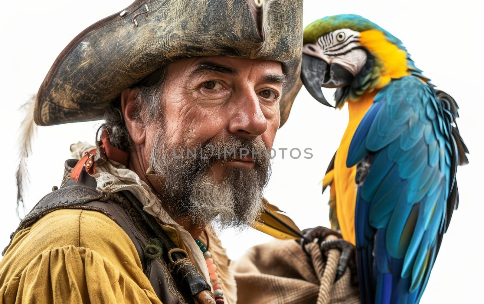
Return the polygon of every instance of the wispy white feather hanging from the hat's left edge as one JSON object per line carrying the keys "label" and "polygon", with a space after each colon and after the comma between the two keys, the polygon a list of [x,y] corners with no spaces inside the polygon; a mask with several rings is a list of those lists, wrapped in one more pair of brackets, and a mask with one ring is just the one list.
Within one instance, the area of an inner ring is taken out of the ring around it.
{"label": "wispy white feather hanging from the hat's left edge", "polygon": [[[35,97],[33,95],[29,101],[20,107],[25,111],[25,118],[19,128],[18,145],[20,147],[18,151],[19,163],[16,172],[17,180],[17,216],[19,215],[19,207],[25,208],[24,195],[29,183],[29,172],[27,170],[27,159],[32,153],[32,140],[37,129],[37,124],[33,120],[33,109],[35,105]],[[24,210],[25,211],[25,210]]]}

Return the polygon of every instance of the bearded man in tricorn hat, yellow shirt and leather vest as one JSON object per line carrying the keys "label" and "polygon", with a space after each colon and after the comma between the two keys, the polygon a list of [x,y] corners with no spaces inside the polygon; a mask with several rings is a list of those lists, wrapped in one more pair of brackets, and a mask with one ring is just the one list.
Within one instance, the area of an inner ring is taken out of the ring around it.
{"label": "bearded man in tricorn hat, yellow shirt and leather vest", "polygon": [[264,152],[300,88],[302,2],[261,2],[137,0],[62,51],[35,122],[106,123],[96,146],[71,146],[61,188],[13,234],[4,302],[261,299],[243,276],[236,288],[211,229],[263,212]]}

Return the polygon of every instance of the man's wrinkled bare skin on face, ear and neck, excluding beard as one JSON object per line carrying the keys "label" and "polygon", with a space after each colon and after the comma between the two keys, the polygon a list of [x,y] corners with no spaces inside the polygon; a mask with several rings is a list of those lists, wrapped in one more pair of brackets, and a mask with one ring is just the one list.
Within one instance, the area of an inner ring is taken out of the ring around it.
{"label": "man's wrinkled bare skin on face, ear and neck, excluding beard", "polygon": [[[201,63],[207,62],[225,69],[199,69]],[[195,146],[236,135],[245,139],[259,137],[266,148],[271,148],[279,127],[279,100],[285,78],[277,61],[212,56],[168,64],[161,98],[164,122],[147,124],[143,123],[146,117],[134,119],[136,90],[126,89],[121,94],[123,115],[134,142],[129,168],[153,191],[162,191],[163,180],[146,174],[160,123],[164,123],[171,144],[185,141]],[[209,174],[222,180],[228,167],[253,166],[250,157],[216,161]],[[188,219],[178,221],[194,237],[203,229]]]}

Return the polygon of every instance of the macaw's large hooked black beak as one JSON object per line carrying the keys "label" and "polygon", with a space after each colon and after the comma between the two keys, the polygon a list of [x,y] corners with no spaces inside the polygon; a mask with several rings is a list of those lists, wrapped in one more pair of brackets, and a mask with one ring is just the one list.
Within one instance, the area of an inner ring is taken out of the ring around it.
{"label": "macaw's large hooked black beak", "polygon": [[332,106],[324,97],[321,87],[342,88],[353,81],[354,76],[341,65],[328,64],[313,54],[302,53],[301,66],[302,84],[306,90],[325,106]]}

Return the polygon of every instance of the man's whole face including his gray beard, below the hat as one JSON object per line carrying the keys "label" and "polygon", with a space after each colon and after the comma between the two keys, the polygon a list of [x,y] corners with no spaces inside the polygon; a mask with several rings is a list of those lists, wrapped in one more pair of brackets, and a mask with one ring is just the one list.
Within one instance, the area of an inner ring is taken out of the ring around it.
{"label": "man's whole face including his gray beard, below the hat", "polygon": [[[277,61],[214,56],[167,65],[163,119],[148,126],[146,145],[175,217],[206,224],[219,215],[222,226],[257,217],[285,80]],[[215,147],[204,150],[208,159],[188,157],[206,145]],[[262,155],[243,155],[242,148]]]}

